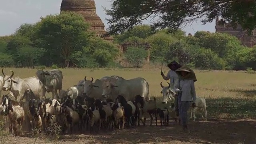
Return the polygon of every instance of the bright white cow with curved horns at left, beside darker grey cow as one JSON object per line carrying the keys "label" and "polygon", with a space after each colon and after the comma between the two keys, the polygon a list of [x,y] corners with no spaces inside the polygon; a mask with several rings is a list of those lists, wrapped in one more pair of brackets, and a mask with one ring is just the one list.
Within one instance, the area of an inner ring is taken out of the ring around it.
{"label": "bright white cow with curved horns at left, beside darker grey cow", "polygon": [[43,84],[38,77],[33,76],[22,79],[17,76],[13,79],[12,77],[14,75],[14,72],[12,70],[10,71],[12,72],[12,75],[7,76],[4,74],[4,70],[2,69],[2,74],[4,76],[4,91],[10,90],[10,94],[14,96],[18,102],[20,101],[20,98],[22,98],[24,92],[27,89],[31,89],[38,99],[41,98],[43,92]]}

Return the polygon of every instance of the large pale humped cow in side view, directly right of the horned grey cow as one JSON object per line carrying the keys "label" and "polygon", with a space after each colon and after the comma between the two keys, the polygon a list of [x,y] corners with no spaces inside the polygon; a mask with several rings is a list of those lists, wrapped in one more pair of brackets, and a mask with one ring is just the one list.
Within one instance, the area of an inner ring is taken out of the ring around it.
{"label": "large pale humped cow in side view, directly right of the horned grey cow", "polygon": [[149,98],[149,86],[148,82],[144,78],[132,78],[126,80],[122,77],[107,78],[102,84],[104,98],[115,99],[118,95],[123,96],[127,101],[135,100],[135,96],[140,95],[145,100]]}

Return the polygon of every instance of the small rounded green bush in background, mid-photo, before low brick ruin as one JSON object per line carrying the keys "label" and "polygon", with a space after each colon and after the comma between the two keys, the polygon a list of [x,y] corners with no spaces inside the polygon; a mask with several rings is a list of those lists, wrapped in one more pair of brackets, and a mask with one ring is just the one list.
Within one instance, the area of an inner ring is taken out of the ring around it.
{"label": "small rounded green bush in background, mid-photo, before low brick ruin", "polygon": [[128,47],[124,56],[130,64],[139,68],[147,56],[147,51],[144,48]]}

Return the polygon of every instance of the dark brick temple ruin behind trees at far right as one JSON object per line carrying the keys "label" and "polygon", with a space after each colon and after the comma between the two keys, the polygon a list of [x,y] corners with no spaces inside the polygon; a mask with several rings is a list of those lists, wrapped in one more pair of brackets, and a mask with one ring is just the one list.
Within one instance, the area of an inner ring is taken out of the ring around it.
{"label": "dark brick temple ruin behind trees at far right", "polygon": [[216,18],[215,32],[227,33],[232,36],[236,36],[238,40],[242,42],[244,46],[253,47],[256,45],[256,29],[253,30],[252,36],[248,36],[240,25],[236,29],[233,29],[229,23],[220,24],[219,18]]}

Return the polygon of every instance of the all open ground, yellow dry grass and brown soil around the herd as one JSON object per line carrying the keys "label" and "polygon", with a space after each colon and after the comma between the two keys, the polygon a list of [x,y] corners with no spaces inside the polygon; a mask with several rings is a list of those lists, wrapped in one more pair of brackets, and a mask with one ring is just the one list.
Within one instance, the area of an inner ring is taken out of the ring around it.
{"label": "all open ground, yellow dry grass and brown soil around the herd", "polygon": [[[4,72],[14,77],[36,76],[36,69],[6,68]],[[84,76],[96,80],[103,76],[118,75],[125,79],[143,77],[150,86],[150,95],[158,98],[161,105],[161,87],[159,69],[126,70],[88,70],[61,69],[64,75],[63,89],[77,84]],[[164,74],[167,69],[163,70]],[[140,126],[122,131],[100,132],[98,135],[77,134],[61,136],[3,136],[0,143],[148,143],[148,144],[253,144],[256,143],[256,74],[232,71],[195,71],[198,81],[195,83],[196,94],[206,98],[208,121],[189,122],[191,132],[184,134],[179,125],[172,120],[169,126]],[[167,81],[166,81],[167,82]],[[166,84],[165,82],[163,84]],[[167,84],[166,84],[167,86]],[[48,94],[50,96],[51,94]],[[1,134],[0,134],[1,135]]]}

